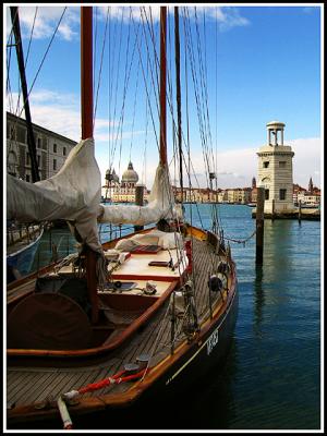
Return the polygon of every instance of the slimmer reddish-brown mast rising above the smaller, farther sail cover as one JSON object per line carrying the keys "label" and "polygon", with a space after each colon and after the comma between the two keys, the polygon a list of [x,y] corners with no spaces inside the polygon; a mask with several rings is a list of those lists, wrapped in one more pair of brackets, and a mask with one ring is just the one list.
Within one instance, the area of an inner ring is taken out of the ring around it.
{"label": "slimmer reddish-brown mast rising above the smaller, farther sail cover", "polygon": [[160,164],[161,166],[167,166],[166,34],[167,34],[167,7],[160,7]]}

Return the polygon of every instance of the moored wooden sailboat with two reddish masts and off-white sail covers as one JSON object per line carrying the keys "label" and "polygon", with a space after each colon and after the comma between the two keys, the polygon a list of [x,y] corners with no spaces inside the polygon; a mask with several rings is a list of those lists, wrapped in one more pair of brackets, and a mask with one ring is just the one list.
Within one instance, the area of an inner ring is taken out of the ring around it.
{"label": "moored wooden sailboat with two reddish masts and off-white sail covers", "polygon": [[[175,11],[177,12],[177,11]],[[8,287],[7,420],[72,428],[85,413],[178,392],[217,365],[238,314],[223,233],[185,222],[173,201],[166,135],[166,22],[160,8],[160,158],[146,206],[100,204],[94,155],[92,7],[81,8],[82,141],[34,184],[8,177],[8,216],[65,219],[81,249]],[[100,244],[97,223],[152,225]],[[61,423],[62,422],[62,423]],[[61,423],[61,424],[60,424]],[[123,426],[123,424],[122,424]]]}

